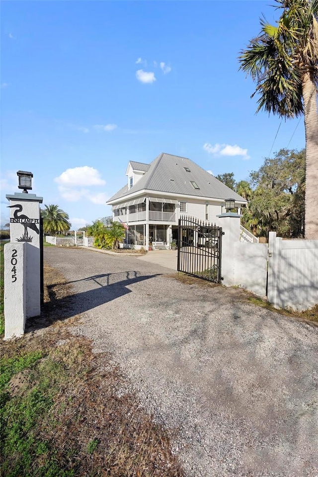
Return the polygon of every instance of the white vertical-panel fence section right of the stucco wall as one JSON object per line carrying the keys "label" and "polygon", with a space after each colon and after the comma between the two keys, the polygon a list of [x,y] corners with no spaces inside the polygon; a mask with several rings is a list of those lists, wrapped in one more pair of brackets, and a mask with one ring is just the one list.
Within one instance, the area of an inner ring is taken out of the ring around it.
{"label": "white vertical-panel fence section right of the stucco wall", "polygon": [[268,301],[298,311],[318,303],[318,240],[283,240],[269,233]]}

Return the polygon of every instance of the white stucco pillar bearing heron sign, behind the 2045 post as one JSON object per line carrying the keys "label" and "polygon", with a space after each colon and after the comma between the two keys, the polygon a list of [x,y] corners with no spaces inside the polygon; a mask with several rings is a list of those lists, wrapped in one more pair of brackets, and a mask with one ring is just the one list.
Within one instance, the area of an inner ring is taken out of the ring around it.
{"label": "white stucco pillar bearing heron sign, behind the 2045 post", "polygon": [[25,314],[37,317],[40,309],[40,204],[42,197],[15,193],[5,196],[10,208],[10,242],[25,243]]}

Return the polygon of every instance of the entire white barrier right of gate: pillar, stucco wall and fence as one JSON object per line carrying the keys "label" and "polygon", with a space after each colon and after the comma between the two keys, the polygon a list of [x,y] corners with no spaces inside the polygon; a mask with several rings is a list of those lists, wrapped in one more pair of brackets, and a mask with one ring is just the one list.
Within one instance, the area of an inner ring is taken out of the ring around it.
{"label": "entire white barrier right of gate: pillar, stucco wall and fence", "polygon": [[219,216],[224,285],[266,294],[275,308],[308,310],[318,304],[318,240],[283,240],[269,233],[269,243],[240,241],[239,216]]}

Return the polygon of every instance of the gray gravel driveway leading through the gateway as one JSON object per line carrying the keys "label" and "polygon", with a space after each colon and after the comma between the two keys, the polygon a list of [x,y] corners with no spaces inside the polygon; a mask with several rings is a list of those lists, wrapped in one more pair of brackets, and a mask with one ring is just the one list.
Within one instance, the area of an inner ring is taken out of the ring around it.
{"label": "gray gravel driveway leading through the gateway", "polygon": [[135,257],[44,258],[73,285],[74,332],[114,353],[187,476],[318,476],[318,328]]}

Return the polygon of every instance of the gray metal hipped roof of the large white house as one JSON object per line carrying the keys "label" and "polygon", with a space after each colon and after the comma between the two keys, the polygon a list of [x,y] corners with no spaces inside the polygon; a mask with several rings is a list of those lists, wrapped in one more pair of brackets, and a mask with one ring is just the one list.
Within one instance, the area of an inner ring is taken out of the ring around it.
{"label": "gray metal hipped roof of the large white house", "polygon": [[[190,169],[190,171],[188,172],[185,167]],[[194,181],[199,189],[195,189],[190,181]],[[125,197],[128,194],[130,195],[143,189],[167,192],[169,194],[183,194],[198,198],[211,197],[222,200],[231,198],[239,202],[246,202],[237,192],[234,192],[220,182],[191,159],[166,153],[160,154],[149,164],[148,171],[133,187],[130,189],[128,189],[128,185],[123,187],[107,202],[112,202],[120,197]]]}

